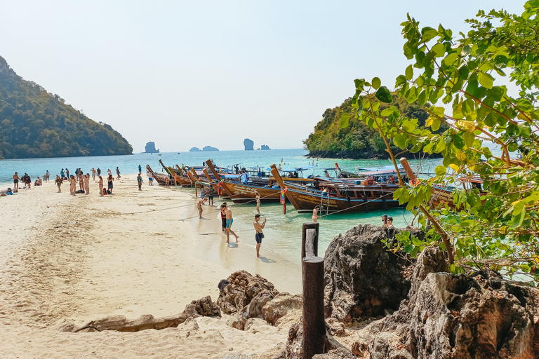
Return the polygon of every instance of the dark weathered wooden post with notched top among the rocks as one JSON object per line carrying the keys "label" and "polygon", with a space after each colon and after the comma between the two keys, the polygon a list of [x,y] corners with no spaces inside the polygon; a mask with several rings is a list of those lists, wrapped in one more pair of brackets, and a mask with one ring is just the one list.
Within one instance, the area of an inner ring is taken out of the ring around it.
{"label": "dark weathered wooden post with notched top among the rocks", "polygon": [[324,258],[318,257],[318,223],[302,229],[303,342],[302,358],[324,353]]}

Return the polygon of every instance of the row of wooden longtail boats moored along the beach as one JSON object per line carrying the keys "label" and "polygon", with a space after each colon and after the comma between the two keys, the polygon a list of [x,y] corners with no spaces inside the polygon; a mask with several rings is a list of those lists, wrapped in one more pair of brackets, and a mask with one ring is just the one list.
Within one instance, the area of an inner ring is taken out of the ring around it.
{"label": "row of wooden longtail boats moored along the beach", "polygon": [[[397,170],[393,165],[366,168],[363,172],[345,172],[335,163],[335,168],[324,169],[324,177],[303,177],[303,172],[317,166],[287,169],[273,164],[266,172],[259,166],[241,170],[238,165],[220,168],[211,160],[201,167],[175,165],[173,168],[161,160],[159,164],[164,169],[163,173],[154,172],[149,165],[146,168],[160,185],[196,187],[229,198],[233,203],[254,203],[257,194],[262,203],[282,203],[286,196],[298,212],[312,212],[319,206],[319,213],[324,215],[389,210],[405,205],[393,198],[394,191],[399,188]],[[329,176],[331,170],[335,172],[333,177]],[[406,183],[417,180],[406,158],[401,159],[399,172]],[[478,185],[480,187],[480,184],[474,184],[475,187]],[[453,187],[433,186],[431,206],[446,203],[454,208],[452,191]]]}

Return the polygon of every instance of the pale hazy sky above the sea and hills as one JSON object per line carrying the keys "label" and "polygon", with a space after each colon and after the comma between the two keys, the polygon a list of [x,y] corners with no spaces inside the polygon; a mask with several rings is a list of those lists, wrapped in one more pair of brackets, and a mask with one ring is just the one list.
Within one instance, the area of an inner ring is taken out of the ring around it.
{"label": "pale hazy sky above the sea and hills", "polygon": [[300,148],[325,109],[408,65],[401,22],[467,31],[524,1],[0,0],[0,55],[143,151]]}

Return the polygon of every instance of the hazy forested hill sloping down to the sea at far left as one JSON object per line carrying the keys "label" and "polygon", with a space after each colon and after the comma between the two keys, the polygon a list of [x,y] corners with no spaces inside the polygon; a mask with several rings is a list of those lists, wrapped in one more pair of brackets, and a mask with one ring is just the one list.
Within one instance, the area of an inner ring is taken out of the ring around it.
{"label": "hazy forested hill sloping down to the sea at far left", "polygon": [[111,126],[15,74],[0,57],[0,158],[132,154]]}

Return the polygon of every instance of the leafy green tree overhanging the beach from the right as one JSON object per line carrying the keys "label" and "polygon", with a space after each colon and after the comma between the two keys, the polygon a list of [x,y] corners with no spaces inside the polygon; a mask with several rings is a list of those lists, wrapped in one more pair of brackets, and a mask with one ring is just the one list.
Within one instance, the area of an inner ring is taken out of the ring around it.
{"label": "leafy green tree overhanging the beach from the right", "polygon": [[[491,266],[537,280],[539,1],[526,2],[521,15],[479,11],[477,18],[467,20],[472,30],[458,39],[441,25],[420,27],[410,15],[401,24],[404,55],[413,63],[397,77],[397,95],[427,111],[425,127],[391,105],[390,91],[376,77],[354,81],[353,115],[378,131],[395,166],[392,145],[444,157],[428,180],[410,186],[399,176],[395,198],[408,203],[431,236],[422,242],[405,234],[397,247],[415,255],[438,243],[455,271]],[[519,88],[516,95],[497,85],[507,73]],[[390,107],[382,109],[383,104]],[[487,142],[498,144],[503,154],[493,156]],[[521,158],[511,158],[514,151]],[[456,187],[454,210],[432,208],[434,184],[470,177],[481,178],[483,189]]]}

